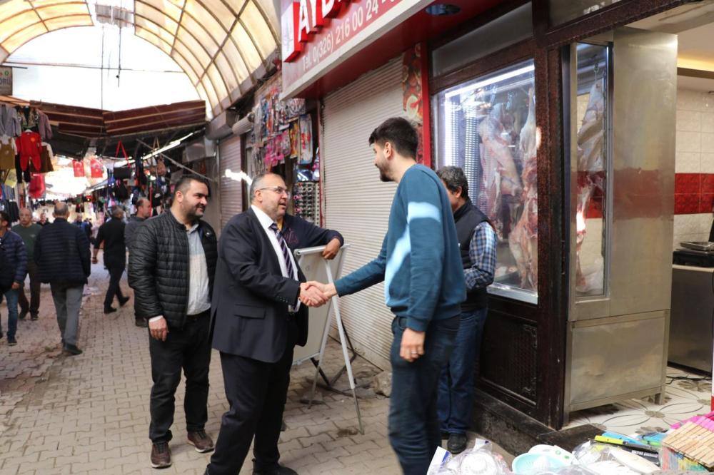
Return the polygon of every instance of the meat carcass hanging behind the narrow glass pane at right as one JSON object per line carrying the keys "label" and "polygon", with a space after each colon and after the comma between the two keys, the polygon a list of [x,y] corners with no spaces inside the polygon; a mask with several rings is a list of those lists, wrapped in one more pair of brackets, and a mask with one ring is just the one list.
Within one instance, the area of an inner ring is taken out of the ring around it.
{"label": "meat carcass hanging behind the narrow glass pane at right", "polygon": [[583,123],[578,131],[578,202],[575,209],[575,288],[588,290],[585,275],[580,268],[580,248],[585,234],[585,218],[590,208],[590,198],[595,190],[605,190],[605,96],[600,81],[595,81],[590,88],[588,108],[583,116]]}

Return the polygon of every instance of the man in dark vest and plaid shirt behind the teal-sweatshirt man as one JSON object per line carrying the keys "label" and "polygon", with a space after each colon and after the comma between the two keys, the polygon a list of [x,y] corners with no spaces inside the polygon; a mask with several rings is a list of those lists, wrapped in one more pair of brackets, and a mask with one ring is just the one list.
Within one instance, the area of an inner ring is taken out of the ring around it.
{"label": "man in dark vest and plaid shirt behind the teal-sweatshirt man", "polygon": [[456,347],[441,371],[438,391],[442,439],[448,438],[446,446],[451,454],[461,454],[466,449],[466,430],[471,421],[474,364],[488,313],[486,287],[493,282],[496,271],[496,232],[468,198],[468,180],[461,168],[443,167],[436,174],[446,187],[453,210],[466,280],[466,302],[461,304]]}

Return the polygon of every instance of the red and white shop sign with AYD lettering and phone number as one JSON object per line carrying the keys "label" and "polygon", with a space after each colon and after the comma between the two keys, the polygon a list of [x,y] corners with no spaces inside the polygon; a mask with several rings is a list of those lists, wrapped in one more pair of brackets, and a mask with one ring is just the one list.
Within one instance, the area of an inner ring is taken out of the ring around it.
{"label": "red and white shop sign with AYD lettering and phone number", "polygon": [[430,0],[283,0],[283,97],[290,97],[431,3]]}

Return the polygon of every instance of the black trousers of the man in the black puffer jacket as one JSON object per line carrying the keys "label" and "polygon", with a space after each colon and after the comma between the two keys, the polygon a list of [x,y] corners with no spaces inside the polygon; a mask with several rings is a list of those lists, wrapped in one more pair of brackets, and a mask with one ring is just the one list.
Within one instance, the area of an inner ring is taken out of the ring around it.
{"label": "black trousers of the man in the black puffer jacket", "polygon": [[149,438],[153,442],[171,440],[174,424],[176,388],[181,382],[181,369],[186,376],[186,431],[203,430],[208,419],[208,365],[211,363],[211,342],[208,339],[211,318],[209,312],[188,317],[183,329],[169,329],[166,341],[151,338],[151,425]]}

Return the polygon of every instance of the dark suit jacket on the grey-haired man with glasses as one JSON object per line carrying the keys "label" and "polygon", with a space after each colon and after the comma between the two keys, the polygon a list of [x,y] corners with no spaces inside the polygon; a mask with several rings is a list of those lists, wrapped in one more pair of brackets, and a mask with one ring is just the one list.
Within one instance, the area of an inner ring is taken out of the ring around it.
{"label": "dark suit jacket on the grey-haired man with glasses", "polygon": [[[298,266],[298,278],[305,276]],[[288,305],[295,305],[300,282],[283,277],[278,257],[253,210],[233,216],[218,242],[211,303],[213,348],[274,363],[288,344]],[[292,317],[296,344],[308,337],[308,308]]]}

